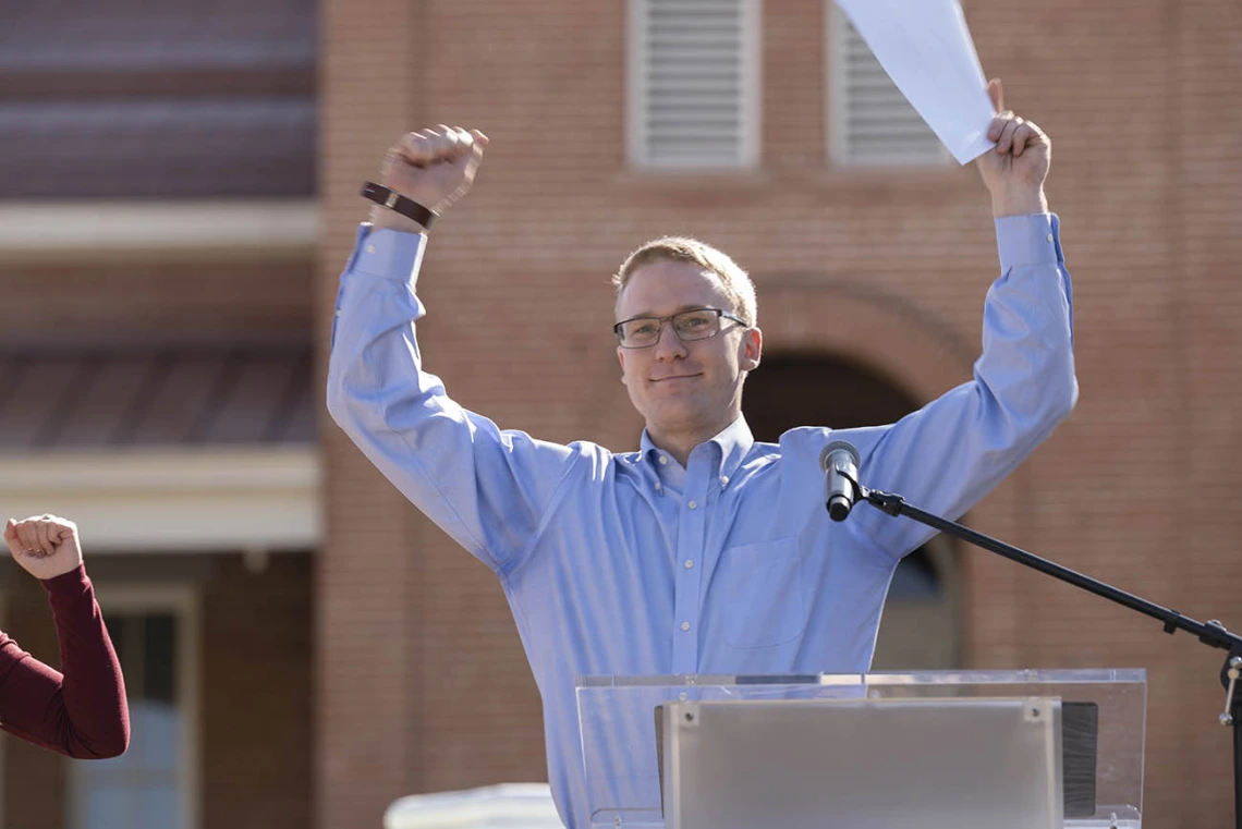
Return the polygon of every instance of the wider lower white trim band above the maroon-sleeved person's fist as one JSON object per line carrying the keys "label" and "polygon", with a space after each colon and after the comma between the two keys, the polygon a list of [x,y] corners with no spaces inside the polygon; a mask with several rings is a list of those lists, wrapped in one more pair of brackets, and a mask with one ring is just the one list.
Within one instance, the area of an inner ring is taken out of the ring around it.
{"label": "wider lower white trim band above the maroon-sleeved person's fist", "polygon": [[0,518],[63,515],[89,555],[314,550],[319,489],[310,447],[0,458]]}

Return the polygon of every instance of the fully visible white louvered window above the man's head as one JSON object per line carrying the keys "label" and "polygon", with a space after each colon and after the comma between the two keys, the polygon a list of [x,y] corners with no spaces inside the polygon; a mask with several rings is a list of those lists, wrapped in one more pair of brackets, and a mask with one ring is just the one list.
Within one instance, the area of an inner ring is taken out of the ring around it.
{"label": "fully visible white louvered window above the man's head", "polygon": [[631,165],[704,170],[758,161],[759,2],[631,0]]}

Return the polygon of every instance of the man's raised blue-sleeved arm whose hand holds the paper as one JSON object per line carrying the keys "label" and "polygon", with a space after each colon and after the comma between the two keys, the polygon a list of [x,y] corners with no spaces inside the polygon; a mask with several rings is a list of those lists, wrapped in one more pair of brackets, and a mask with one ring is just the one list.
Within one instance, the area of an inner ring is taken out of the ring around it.
{"label": "man's raised blue-sleeved arm whose hand holds the paper", "polygon": [[[1043,192],[1052,144],[1004,109],[999,81],[989,91],[999,110],[989,130],[996,148],[976,165],[991,194],[1001,274],[985,300],[974,380],[893,426],[836,433],[858,447],[864,485],[950,519],[1012,472],[1078,396],[1069,273]],[[892,555],[930,535],[862,505],[847,524]]]}

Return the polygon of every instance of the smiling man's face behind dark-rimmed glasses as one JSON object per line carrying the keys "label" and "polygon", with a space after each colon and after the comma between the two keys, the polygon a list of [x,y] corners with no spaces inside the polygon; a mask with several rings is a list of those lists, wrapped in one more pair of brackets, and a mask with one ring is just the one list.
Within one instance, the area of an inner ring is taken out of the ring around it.
{"label": "smiling man's face behind dark-rimmed glasses", "polygon": [[[635,271],[617,302],[617,321],[671,316],[696,308],[733,313],[719,279],[692,262],[660,261]],[[741,382],[759,365],[761,335],[722,319],[720,333],[682,343],[671,321],[646,349],[617,347],[621,380],[652,436],[707,439],[741,413]]]}

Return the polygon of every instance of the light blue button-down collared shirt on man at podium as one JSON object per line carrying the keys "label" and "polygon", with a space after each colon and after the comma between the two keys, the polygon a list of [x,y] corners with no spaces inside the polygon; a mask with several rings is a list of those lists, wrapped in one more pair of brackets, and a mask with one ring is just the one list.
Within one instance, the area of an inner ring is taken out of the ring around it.
{"label": "light blue button-down collared shirt on man at podium", "polygon": [[589,827],[581,675],[861,673],[893,570],[932,531],[874,509],[831,521],[820,452],[852,443],[862,483],[959,518],[1077,398],[1069,274],[1051,213],[997,220],[974,380],[899,422],[755,443],[739,418],[684,468],[640,452],[502,431],[422,369],[426,237],[359,231],[328,372],[337,423],[415,505],[499,577],[539,685],[566,825]]}

